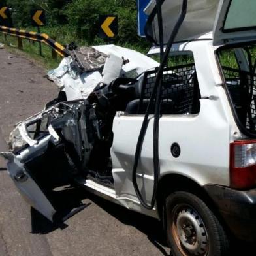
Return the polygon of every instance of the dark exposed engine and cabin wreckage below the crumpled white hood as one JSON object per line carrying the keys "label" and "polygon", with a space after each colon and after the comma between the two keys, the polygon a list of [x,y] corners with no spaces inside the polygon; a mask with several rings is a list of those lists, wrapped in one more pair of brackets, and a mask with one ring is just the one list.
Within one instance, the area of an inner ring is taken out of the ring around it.
{"label": "dark exposed engine and cabin wreckage below the crumpled white hood", "polygon": [[25,161],[39,184],[52,189],[60,181],[82,176],[112,187],[112,122],[131,101],[136,82],[118,78],[96,88],[88,99],[61,101],[60,96],[59,103],[57,99],[48,103],[46,110],[16,127],[10,139],[13,153],[18,155],[50,135],[44,151]]}

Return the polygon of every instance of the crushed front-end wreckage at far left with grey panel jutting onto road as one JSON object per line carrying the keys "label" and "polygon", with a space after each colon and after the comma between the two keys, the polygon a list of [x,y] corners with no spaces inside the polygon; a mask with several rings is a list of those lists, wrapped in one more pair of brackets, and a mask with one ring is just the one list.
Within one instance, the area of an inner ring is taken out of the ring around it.
{"label": "crushed front-end wreckage at far left with grey panel jutting onto road", "polygon": [[[12,152],[0,154],[7,159],[8,173],[20,194],[50,221],[54,221],[57,212],[49,200],[53,189],[50,171],[61,172],[61,176],[65,176],[65,172],[74,166],[69,153],[62,150],[65,148],[63,145],[72,145],[81,165],[88,161],[90,143],[86,137],[88,126],[84,121],[91,112],[86,106],[85,101],[58,103],[18,124],[11,136]],[[86,148],[82,148],[82,144]],[[60,166],[59,170],[54,169],[56,166]]]}

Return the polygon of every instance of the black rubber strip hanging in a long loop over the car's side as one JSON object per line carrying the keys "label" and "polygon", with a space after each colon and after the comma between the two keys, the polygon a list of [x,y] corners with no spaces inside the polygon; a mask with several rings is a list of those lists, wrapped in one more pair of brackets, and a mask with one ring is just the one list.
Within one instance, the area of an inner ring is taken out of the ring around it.
{"label": "black rubber strip hanging in a long loop over the car's side", "polygon": [[[159,3],[157,1],[157,3]],[[176,35],[178,34],[178,31],[180,29],[180,26],[184,22],[185,16],[187,14],[187,0],[183,0],[182,3],[182,12],[180,14],[180,17],[178,18],[178,21],[176,25],[174,26],[174,29],[172,31],[172,34],[170,35],[170,39],[168,40],[167,48],[165,50],[165,53],[163,54],[163,59],[161,61],[159,70],[157,72],[157,76],[155,78],[155,85],[153,86],[153,91],[152,95],[150,97],[150,102],[148,103],[148,107],[146,110],[146,114],[142,123],[142,127],[140,129],[140,135],[138,136],[138,143],[136,146],[136,152],[135,152],[135,163],[133,165],[133,185],[135,187],[135,192],[140,200],[140,203],[144,208],[148,210],[152,210],[153,207],[155,206],[155,200],[156,200],[156,195],[157,195],[157,185],[159,181],[159,171],[160,171],[160,166],[159,166],[159,119],[160,119],[160,102],[161,102],[161,80],[163,78],[163,71],[165,69],[165,66],[167,65],[168,61],[168,55],[169,52],[172,48],[172,44],[174,42],[174,39]],[[155,93],[156,99],[155,99]],[[154,129],[153,129],[153,161],[154,161],[154,185],[153,185],[153,196],[152,196],[152,201],[151,204],[149,205],[145,199],[143,199],[140,189],[138,188],[138,183],[136,180],[136,170],[138,168],[138,161],[140,159],[140,154],[142,150],[142,145],[144,142],[144,137],[146,135],[146,131],[148,129],[148,117],[150,115],[150,108],[152,108],[152,104],[155,101],[155,119],[154,119]]]}

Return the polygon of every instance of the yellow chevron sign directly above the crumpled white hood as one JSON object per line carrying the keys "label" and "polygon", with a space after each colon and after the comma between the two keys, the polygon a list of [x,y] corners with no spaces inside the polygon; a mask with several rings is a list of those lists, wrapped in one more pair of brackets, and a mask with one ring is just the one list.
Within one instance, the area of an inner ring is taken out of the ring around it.
{"label": "yellow chevron sign directly above the crumpled white hood", "polygon": [[[118,34],[118,17],[101,16],[101,37],[114,37]],[[103,33],[102,33],[103,32]]]}

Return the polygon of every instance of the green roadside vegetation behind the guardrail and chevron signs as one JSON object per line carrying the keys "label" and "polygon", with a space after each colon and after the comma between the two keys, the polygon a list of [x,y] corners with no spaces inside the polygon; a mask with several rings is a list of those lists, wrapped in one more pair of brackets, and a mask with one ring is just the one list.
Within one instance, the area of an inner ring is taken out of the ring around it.
{"label": "green roadside vegetation behind the guardrail and chevron signs", "polygon": [[[28,31],[37,31],[37,27],[31,27],[30,11],[45,10],[47,25],[40,28],[41,32],[63,45],[73,41],[79,46],[113,43],[142,53],[150,47],[145,39],[138,37],[136,0],[4,0],[5,4],[12,8],[13,27]],[[119,33],[111,41],[98,36],[100,15],[118,15]],[[14,48],[17,46],[15,37],[7,36],[6,42],[0,33],[0,41]],[[37,42],[23,40],[23,44],[24,52],[41,59],[46,68],[59,63],[59,59],[52,59],[52,50],[47,46],[42,46],[43,57],[40,58]]]}

